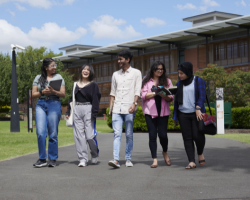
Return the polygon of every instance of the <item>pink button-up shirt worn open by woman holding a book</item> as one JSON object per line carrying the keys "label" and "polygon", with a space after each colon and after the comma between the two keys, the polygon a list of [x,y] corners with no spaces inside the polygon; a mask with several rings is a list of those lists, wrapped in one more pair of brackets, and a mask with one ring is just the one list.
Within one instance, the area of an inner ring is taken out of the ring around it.
{"label": "pink button-up shirt worn open by woman holding a book", "polygon": [[[168,81],[168,87],[173,86],[172,82],[170,79],[167,79]],[[151,78],[141,89],[141,98],[142,98],[142,111],[147,115],[151,115],[152,118],[158,117],[158,113],[157,113],[157,108],[156,108],[156,104],[155,104],[155,99],[154,98],[150,98],[150,99],[145,99],[146,94],[148,92],[151,92],[151,88],[154,85],[154,80]],[[169,95],[169,97],[172,98],[171,101],[173,101],[174,97],[173,95]],[[169,103],[165,100],[165,99],[161,99],[161,114],[160,116],[168,116],[170,115],[170,108],[169,108]]]}

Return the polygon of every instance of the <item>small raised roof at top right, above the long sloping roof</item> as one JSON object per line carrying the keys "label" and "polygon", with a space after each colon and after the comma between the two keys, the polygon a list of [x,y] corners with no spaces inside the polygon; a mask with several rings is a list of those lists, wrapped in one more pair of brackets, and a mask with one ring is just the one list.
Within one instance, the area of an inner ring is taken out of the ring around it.
{"label": "small raised roof at top right, above the long sloping roof", "polygon": [[224,17],[224,18],[232,19],[232,18],[235,18],[235,17],[241,17],[242,15],[226,13],[226,12],[220,12],[220,11],[212,11],[212,12],[207,12],[207,13],[204,13],[204,14],[184,18],[183,21],[192,22],[192,21],[195,21],[195,20],[201,20],[201,19],[204,19],[204,18],[212,17],[212,16],[218,16],[218,17]]}

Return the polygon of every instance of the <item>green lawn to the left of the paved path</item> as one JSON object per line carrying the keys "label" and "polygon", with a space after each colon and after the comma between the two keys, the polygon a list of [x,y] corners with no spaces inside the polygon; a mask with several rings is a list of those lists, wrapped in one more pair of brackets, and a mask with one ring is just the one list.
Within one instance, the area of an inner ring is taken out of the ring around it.
{"label": "green lawn to the left of the paved path", "polygon": [[[59,147],[74,144],[73,130],[66,127],[65,123],[60,121],[59,124]],[[10,132],[9,121],[0,121],[0,127],[0,160],[38,151],[36,128],[33,129],[33,133],[28,133],[27,121],[20,121],[20,133]],[[98,133],[112,132],[104,120],[97,120],[96,127]]]}

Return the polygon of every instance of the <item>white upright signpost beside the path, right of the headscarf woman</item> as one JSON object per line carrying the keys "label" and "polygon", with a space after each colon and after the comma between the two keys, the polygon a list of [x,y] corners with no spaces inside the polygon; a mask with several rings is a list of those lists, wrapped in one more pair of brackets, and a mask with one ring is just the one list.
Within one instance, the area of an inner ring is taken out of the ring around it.
{"label": "white upright signpost beside the path, right of the headscarf woman", "polygon": [[216,88],[217,134],[225,134],[223,88]]}

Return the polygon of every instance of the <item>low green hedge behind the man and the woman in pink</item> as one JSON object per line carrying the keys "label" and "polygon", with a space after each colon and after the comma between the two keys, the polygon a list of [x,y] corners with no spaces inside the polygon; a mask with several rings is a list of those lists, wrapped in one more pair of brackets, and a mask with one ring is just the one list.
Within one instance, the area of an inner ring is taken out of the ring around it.
{"label": "low green hedge behind the man and the woman in pink", "polygon": [[[171,114],[168,118],[168,130],[180,130],[180,125],[174,127],[174,120],[173,118],[173,111],[174,111],[174,106],[170,106],[170,111]],[[206,107],[207,114],[209,114],[209,109]],[[215,115],[215,109],[211,108],[212,114]],[[112,116],[109,116],[109,108],[106,109],[106,116],[107,116],[107,125],[112,128]],[[123,124],[124,128],[124,124]],[[135,121],[134,121],[134,131],[148,131],[147,124],[145,121],[145,117],[142,112],[142,107],[138,106],[136,115],[135,115]]]}

